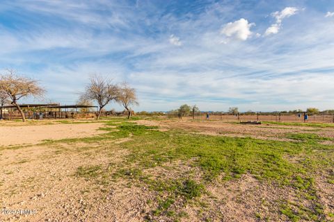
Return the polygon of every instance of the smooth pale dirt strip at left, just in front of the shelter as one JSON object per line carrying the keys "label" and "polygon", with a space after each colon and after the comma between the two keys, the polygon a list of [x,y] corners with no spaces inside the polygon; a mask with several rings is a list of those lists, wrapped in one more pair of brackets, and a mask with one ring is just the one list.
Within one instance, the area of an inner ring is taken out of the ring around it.
{"label": "smooth pale dirt strip at left, just in front of the shelter", "polygon": [[45,139],[82,138],[105,133],[103,123],[0,126],[0,146],[38,144]]}

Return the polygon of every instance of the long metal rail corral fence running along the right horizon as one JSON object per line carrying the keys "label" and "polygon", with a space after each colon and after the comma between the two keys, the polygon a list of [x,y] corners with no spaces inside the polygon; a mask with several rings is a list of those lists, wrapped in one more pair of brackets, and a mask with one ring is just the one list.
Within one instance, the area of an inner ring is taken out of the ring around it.
{"label": "long metal rail corral fence running along the right horizon", "polygon": [[[167,113],[167,118],[181,118],[180,114]],[[304,114],[226,114],[223,112],[198,112],[182,116],[186,119],[221,120],[221,121],[277,121],[277,122],[307,122],[307,123],[334,123],[333,114],[308,115],[304,120]]]}

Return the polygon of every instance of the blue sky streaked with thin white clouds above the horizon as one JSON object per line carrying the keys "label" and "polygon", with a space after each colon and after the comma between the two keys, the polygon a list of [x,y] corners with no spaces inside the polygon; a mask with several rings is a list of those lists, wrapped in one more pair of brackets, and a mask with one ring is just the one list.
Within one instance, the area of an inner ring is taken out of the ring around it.
{"label": "blue sky streaked with thin white clouds above the horizon", "polygon": [[334,109],[334,1],[2,0],[8,68],[67,105],[98,74],[135,111]]}

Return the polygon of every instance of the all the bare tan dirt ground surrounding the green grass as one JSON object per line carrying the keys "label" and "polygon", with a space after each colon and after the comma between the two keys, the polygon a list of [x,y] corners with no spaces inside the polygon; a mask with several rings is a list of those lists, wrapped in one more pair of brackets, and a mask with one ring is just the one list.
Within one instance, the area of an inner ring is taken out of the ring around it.
{"label": "all the bare tan dirt ground surrounding the green grass", "polygon": [[[286,140],[285,133],[308,132],[334,137],[334,129],[326,130],[303,126],[241,126],[219,121],[136,121],[146,126],[159,126],[159,130],[189,130],[193,133],[225,135],[231,137],[254,137],[259,139]],[[78,167],[86,165],[113,166],[122,164],[127,151],[119,148],[127,139],[95,142],[90,144],[40,145],[44,139],[91,137],[104,131],[97,130],[103,123],[82,124],[36,124],[22,123],[0,126],[0,206],[3,210],[35,210],[32,214],[0,214],[0,221],[145,221],[150,210],[148,200],[154,193],[147,187],[130,187],[126,182],[116,181],[105,189],[90,180],[75,177]],[[306,130],[306,131],[305,131]],[[26,146],[29,144],[29,146]],[[10,145],[24,145],[10,148]],[[180,164],[180,163],[176,163]],[[172,176],[187,173],[189,166],[172,166]],[[182,170],[180,170],[182,169]],[[170,172],[168,172],[170,173]],[[167,174],[168,174],[167,173]],[[157,171],[159,176],[164,171]],[[328,205],[333,205],[333,186],[323,185]],[[246,174],[230,183],[212,184],[208,191],[214,196],[207,214],[224,214],[225,221],[263,221],[256,219],[253,210],[262,212],[273,205],[277,198],[285,198],[289,190],[264,186]],[[233,194],[233,195],[231,195]],[[205,197],[203,197],[205,198]],[[269,202],[264,203],[264,199]],[[271,203],[272,201],[272,203]],[[267,207],[267,208],[266,208]],[[266,208],[266,209],[263,209]],[[186,207],[188,219],[200,211],[196,205]],[[273,216],[273,221],[280,221]],[[168,221],[168,219],[161,219]],[[213,220],[216,221],[216,220]]]}

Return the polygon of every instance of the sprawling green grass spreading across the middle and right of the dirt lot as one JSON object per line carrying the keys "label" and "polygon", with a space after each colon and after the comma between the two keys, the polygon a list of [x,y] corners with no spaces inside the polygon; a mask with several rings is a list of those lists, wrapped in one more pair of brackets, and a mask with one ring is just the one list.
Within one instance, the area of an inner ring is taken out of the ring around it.
{"label": "sprawling green grass spreading across the middle and right of the dirt lot", "polygon": [[[123,178],[129,180],[130,185],[148,186],[157,192],[158,205],[152,209],[154,216],[168,216],[177,221],[180,218],[178,210],[206,194],[205,187],[218,176],[223,175],[223,181],[228,181],[249,173],[257,180],[290,187],[300,200],[310,203],[283,202],[279,213],[289,220],[321,221],[324,218],[314,178],[319,171],[334,168],[334,146],[318,143],[328,138],[311,133],[285,135],[299,142],[216,137],[193,135],[182,130],[160,132],[156,127],[141,126],[131,121],[109,121],[101,130],[106,133],[66,142],[112,141],[132,136],[128,142],[118,144],[128,150],[129,155],[114,168],[115,171],[109,171],[109,166],[79,167],[76,176],[94,179],[102,185]],[[290,160],[292,157],[296,160]],[[145,169],[164,167],[176,161],[190,164],[191,169],[200,169],[199,178],[194,180],[191,171],[180,173],[173,179],[143,173]],[[255,218],[259,215],[256,214]]]}

